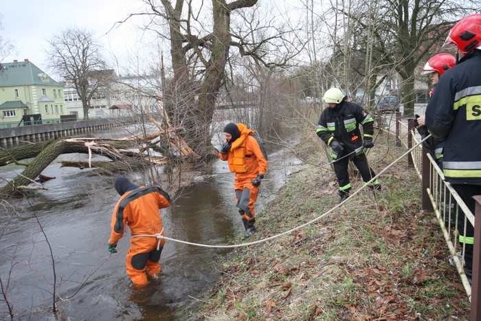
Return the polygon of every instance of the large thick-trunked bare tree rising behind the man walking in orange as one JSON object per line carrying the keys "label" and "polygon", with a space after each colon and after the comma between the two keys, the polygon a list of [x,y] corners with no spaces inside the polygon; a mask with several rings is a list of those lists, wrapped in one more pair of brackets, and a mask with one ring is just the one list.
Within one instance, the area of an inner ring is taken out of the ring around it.
{"label": "large thick-trunked bare tree rising behind the man walking in orange", "polygon": [[[212,0],[212,10],[208,11],[203,2],[200,8],[194,7],[192,0],[161,0],[159,4],[144,0],[146,11],[128,16],[148,15],[147,28],[170,42],[173,76],[166,84],[164,108],[175,126],[186,129],[184,137],[199,155],[212,151],[210,124],[230,56],[237,52],[258,60],[261,65],[282,64],[269,62],[265,52],[265,44],[282,37],[282,32],[252,41],[250,32],[232,28],[233,13],[251,8],[257,2]],[[212,20],[206,23],[209,19]],[[166,25],[168,32],[164,32]],[[208,30],[208,26],[212,28]]]}

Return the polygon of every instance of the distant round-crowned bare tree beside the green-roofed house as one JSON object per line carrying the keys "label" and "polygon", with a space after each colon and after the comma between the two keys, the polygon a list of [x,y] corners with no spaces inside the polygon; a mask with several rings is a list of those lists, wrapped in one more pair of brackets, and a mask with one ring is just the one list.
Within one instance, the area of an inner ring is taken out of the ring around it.
{"label": "distant round-crowned bare tree beside the green-roofed house", "polygon": [[54,68],[76,88],[82,101],[84,119],[89,119],[90,100],[109,84],[113,71],[105,71],[101,47],[87,30],[71,28],[49,41],[49,55]]}

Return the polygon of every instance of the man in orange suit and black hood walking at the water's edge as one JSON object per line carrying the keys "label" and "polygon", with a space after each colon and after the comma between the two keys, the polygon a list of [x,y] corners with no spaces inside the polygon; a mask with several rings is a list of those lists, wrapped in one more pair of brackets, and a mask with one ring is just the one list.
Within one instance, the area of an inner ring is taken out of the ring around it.
{"label": "man in orange suit and black hood walking at the water's edge", "polygon": [[230,171],[236,173],[234,190],[245,236],[256,232],[254,203],[259,193],[260,181],[267,170],[267,160],[252,133],[254,131],[245,124],[230,122],[224,127],[225,143],[219,152],[219,158],[227,161]]}

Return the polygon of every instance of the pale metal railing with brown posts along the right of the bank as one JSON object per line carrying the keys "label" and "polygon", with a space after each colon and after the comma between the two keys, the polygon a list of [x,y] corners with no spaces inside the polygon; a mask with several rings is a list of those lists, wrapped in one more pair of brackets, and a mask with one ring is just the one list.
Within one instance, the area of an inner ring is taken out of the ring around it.
{"label": "pale metal railing with brown posts along the right of the bank", "polygon": [[[416,133],[415,126],[416,121],[414,119],[408,119],[407,124],[405,124],[399,112],[377,115],[377,127],[381,132],[394,135],[396,137],[396,146],[401,146],[402,144],[405,148],[412,148],[413,143],[419,144],[421,142],[421,137]],[[460,232],[462,232],[462,235],[466,235],[468,230],[472,232],[473,229],[473,235],[481,235],[481,196],[474,197],[477,214],[475,216],[465,202],[462,201],[453,186],[445,181],[443,170],[439,168],[436,160],[427,151],[424,144],[419,144],[408,155],[407,166],[414,168],[421,179],[423,210],[429,210],[436,214],[451,254],[449,263],[456,267],[462,286],[471,301],[471,320],[481,320],[481,287],[479,278],[481,240],[479,237],[474,238],[472,283],[470,283],[464,269],[467,243],[459,242]]]}

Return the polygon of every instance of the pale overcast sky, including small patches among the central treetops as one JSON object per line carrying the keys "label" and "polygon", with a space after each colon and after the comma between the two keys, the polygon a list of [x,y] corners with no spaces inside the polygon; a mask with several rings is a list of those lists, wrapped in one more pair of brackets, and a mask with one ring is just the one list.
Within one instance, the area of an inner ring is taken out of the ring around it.
{"label": "pale overcast sky, including small patches among the central treetops", "polygon": [[[211,6],[210,1],[194,0],[194,6],[200,3]],[[302,6],[302,1],[260,0],[258,4],[280,19],[292,19],[298,15],[293,9]],[[133,17],[111,29],[128,14],[142,12],[142,0],[1,0],[0,8],[0,32],[15,47],[3,62],[28,58],[56,80],[59,77],[49,69],[48,41],[68,27],[91,31],[104,47],[107,63],[120,74],[126,74],[126,69],[135,71],[137,63],[140,71],[145,71],[159,56],[159,49],[164,53],[170,50],[165,40],[142,30],[146,16]]]}

